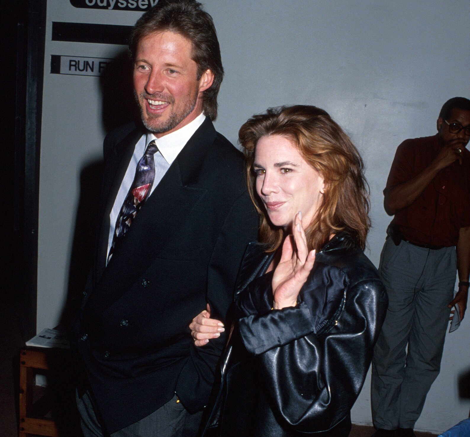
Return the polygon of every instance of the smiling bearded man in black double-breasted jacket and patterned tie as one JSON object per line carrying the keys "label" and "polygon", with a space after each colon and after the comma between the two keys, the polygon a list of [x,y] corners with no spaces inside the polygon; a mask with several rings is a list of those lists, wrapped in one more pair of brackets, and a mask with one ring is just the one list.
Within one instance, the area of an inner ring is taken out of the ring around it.
{"label": "smiling bearded man in black double-breasted jacket and patterned tie", "polygon": [[78,409],[86,437],[188,437],[225,335],[195,348],[188,324],[206,302],[226,319],[258,220],[243,156],[211,122],[223,75],[211,16],[194,1],[160,1],[130,49],[145,129],[104,141],[101,228],[73,328],[86,381]]}

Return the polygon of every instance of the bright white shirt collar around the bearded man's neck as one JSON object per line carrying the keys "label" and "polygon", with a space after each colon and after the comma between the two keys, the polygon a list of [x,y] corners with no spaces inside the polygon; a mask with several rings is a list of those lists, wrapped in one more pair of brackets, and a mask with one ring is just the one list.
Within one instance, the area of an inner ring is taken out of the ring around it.
{"label": "bright white shirt collar around the bearded man's neck", "polygon": [[171,165],[186,143],[188,143],[189,138],[191,138],[199,126],[203,124],[204,120],[205,115],[204,113],[201,113],[186,126],[183,126],[170,134],[164,135],[161,138],[157,138],[151,132],[148,132],[145,139],[145,148],[147,148],[150,141],[155,140],[158,151],[162,154],[165,161]]}

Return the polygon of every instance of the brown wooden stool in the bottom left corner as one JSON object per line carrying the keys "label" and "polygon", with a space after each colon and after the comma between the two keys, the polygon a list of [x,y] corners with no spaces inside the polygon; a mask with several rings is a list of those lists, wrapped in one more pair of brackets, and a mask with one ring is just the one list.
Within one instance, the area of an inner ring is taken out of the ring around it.
{"label": "brown wooden stool in the bottom left corner", "polygon": [[47,402],[42,402],[43,405],[39,405],[42,406],[42,408],[38,408],[37,405],[41,404],[40,400],[33,405],[33,389],[36,385],[35,370],[49,370],[48,360],[51,357],[60,357],[60,355],[63,355],[63,351],[38,348],[23,349],[20,351],[19,437],[30,437],[32,435],[60,436],[54,420],[40,417],[50,410],[47,408]]}

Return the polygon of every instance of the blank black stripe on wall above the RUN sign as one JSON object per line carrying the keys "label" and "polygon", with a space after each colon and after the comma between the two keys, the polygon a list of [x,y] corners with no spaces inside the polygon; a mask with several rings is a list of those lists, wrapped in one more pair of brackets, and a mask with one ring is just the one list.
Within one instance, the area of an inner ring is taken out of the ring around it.
{"label": "blank black stripe on wall above the RUN sign", "polygon": [[133,26],[52,22],[52,40],[127,46]]}

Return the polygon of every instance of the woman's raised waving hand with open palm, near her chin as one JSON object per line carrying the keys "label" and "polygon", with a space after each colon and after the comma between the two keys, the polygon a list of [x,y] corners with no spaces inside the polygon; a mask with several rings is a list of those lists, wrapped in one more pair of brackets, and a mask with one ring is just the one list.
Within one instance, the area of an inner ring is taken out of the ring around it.
{"label": "woman's raised waving hand with open palm, near her chin", "polygon": [[307,249],[300,213],[295,216],[292,234],[285,238],[281,260],[274,270],[272,281],[274,310],[297,304],[300,289],[305,284],[315,261],[315,251],[308,252]]}

